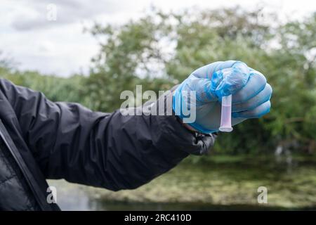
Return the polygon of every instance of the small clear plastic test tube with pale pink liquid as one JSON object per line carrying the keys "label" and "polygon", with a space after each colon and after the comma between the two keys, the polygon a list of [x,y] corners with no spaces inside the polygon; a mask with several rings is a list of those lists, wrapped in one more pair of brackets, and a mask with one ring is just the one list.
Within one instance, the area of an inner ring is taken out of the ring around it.
{"label": "small clear plastic test tube with pale pink liquid", "polygon": [[222,112],[220,115],[220,131],[232,131],[232,95],[222,97]]}

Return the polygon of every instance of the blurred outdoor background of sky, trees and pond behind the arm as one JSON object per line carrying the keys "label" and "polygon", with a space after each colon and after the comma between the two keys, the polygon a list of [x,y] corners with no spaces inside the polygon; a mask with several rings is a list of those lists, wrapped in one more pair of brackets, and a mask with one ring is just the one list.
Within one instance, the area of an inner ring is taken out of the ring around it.
{"label": "blurred outdoor background of sky, trees and pond behind the arm", "polygon": [[62,210],[316,210],[316,1],[269,2],[1,1],[1,77],[52,101],[111,112],[228,59],[273,88],[270,114],[136,190],[49,181]]}

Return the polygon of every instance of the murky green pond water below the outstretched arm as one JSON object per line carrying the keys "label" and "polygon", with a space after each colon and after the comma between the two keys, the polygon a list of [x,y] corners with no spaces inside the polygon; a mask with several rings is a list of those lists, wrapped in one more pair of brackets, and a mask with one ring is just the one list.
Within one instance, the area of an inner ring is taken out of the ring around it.
{"label": "murky green pond water below the outstretched arm", "polygon": [[[108,191],[63,180],[62,210],[316,210],[315,157],[214,157],[183,162],[136,190]],[[258,187],[268,189],[259,204]]]}

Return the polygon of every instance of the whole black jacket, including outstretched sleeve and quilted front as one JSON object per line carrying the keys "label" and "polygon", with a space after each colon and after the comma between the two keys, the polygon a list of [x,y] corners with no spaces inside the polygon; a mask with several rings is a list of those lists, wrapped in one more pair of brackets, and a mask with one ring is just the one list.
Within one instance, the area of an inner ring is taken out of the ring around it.
{"label": "whole black jacket, including outstretched sleeve and quilted front", "polygon": [[1,210],[58,210],[47,203],[46,179],[113,191],[137,188],[190,153],[205,153],[215,137],[188,131],[174,115],[100,113],[53,103],[5,79],[0,120]]}

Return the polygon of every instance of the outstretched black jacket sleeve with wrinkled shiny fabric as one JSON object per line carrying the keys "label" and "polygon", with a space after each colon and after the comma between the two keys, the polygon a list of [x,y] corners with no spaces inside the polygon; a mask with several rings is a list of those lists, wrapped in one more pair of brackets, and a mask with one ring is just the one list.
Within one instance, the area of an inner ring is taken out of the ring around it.
{"label": "outstretched black jacket sleeve with wrinkled shiny fabric", "polygon": [[93,112],[77,103],[53,103],[5,79],[0,86],[48,179],[114,191],[136,188],[213,145],[214,136],[188,131],[174,115]]}

